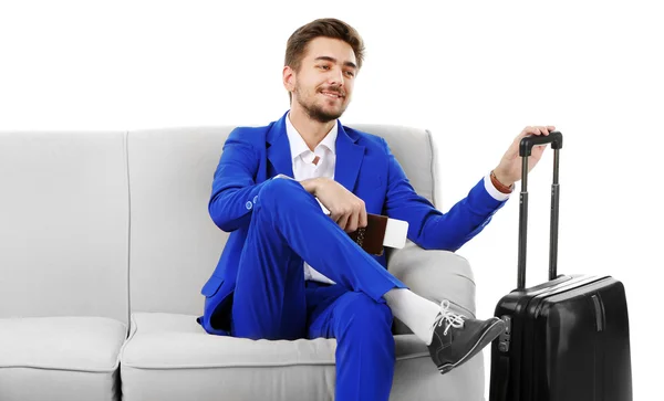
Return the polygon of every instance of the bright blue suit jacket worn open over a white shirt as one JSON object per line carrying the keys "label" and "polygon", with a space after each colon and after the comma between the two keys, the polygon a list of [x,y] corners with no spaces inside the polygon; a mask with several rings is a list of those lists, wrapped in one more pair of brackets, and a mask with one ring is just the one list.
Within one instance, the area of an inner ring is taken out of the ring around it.
{"label": "bright blue suit jacket worn open over a white shirt", "polygon": [[[238,127],[224,145],[208,210],[230,236],[201,289],[206,302],[204,316],[197,319],[210,334],[229,334],[238,262],[261,187],[279,173],[293,177],[286,118],[288,112],[263,127]],[[483,178],[465,199],[442,213],[415,192],[385,139],[336,124],[334,180],[361,198],[369,213],[407,221],[408,239],[423,249],[458,250],[505,204],[487,192]],[[374,257],[386,267],[384,254]]]}

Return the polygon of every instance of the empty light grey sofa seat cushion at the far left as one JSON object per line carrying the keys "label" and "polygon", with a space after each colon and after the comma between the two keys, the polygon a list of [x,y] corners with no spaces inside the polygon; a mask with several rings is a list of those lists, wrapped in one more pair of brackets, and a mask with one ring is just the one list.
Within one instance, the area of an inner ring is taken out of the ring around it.
{"label": "empty light grey sofa seat cushion at the far left", "polygon": [[0,400],[118,399],[126,335],[105,317],[0,318]]}

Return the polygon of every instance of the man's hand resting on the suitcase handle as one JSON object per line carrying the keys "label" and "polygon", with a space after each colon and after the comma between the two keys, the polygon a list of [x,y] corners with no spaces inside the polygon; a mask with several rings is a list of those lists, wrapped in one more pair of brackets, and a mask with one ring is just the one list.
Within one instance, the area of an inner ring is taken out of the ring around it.
{"label": "man's hand resting on the suitcase handle", "polygon": [[[498,167],[494,169],[496,179],[507,187],[511,187],[512,183],[519,181],[521,179],[521,158],[519,157],[519,144],[521,143],[521,138],[528,135],[547,136],[552,130],[556,130],[556,127],[552,125],[536,127],[528,126],[523,128],[521,134],[515,138],[515,141],[511,144],[509,149],[507,149],[502,156],[502,159],[500,159]],[[547,149],[547,145],[532,147],[532,151],[528,157],[528,172],[530,172],[530,170],[532,170],[532,168],[537,166],[538,161],[542,158],[544,149]]]}

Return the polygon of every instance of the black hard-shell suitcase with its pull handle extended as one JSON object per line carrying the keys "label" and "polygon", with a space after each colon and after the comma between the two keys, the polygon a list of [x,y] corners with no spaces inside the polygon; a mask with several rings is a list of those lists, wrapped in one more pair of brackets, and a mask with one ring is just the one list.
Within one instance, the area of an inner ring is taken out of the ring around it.
{"label": "black hard-shell suitcase with its pull handle extended", "polygon": [[[551,144],[549,282],[526,286],[528,157]],[[562,134],[521,140],[518,285],[496,307],[506,331],[491,344],[490,401],[631,401],[625,291],[611,276],[558,275],[559,159]],[[605,250],[599,251],[604,252]]]}

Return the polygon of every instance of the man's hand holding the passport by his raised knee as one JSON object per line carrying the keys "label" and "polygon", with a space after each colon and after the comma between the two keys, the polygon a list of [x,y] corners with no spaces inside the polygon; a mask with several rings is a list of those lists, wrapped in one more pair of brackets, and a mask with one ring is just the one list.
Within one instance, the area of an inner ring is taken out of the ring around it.
{"label": "man's hand holding the passport by his raised knee", "polygon": [[301,182],[330,211],[330,218],[345,232],[366,226],[364,201],[341,183],[329,178],[314,178]]}

